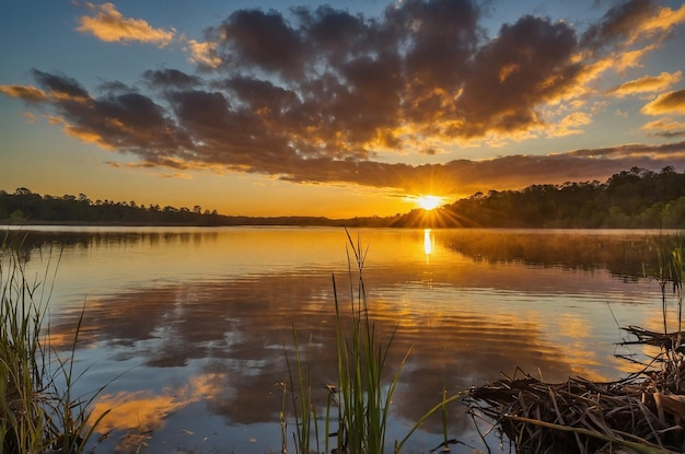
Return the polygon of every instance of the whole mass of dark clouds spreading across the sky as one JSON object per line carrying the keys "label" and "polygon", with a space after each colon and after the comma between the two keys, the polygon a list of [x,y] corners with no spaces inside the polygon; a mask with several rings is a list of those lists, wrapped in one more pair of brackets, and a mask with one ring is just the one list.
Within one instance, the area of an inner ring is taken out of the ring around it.
{"label": "whole mass of dark clouds spreading across the sky", "polygon": [[[45,97],[33,88],[2,92],[53,108],[70,133],[132,153],[146,166],[411,191],[441,182],[444,193],[463,194],[601,179],[635,165],[660,168],[664,159],[683,163],[682,154],[642,145],[483,162],[380,162],[388,150],[434,154],[436,142],[544,128],[542,108],[583,86],[596,62],[578,56],[608,53],[654,7],[624,2],[580,39],[569,24],[532,15],[488,38],[479,8],[407,0],[380,19],[332,7],[288,15],[241,10],[207,31],[222,65],[201,75],[148,70],[141,86],[109,82],[95,96],[67,75],[34,70]],[[670,109],[682,105],[674,93],[662,100]],[[421,144],[425,139],[432,142]],[[684,151],[683,142],[672,147]]]}

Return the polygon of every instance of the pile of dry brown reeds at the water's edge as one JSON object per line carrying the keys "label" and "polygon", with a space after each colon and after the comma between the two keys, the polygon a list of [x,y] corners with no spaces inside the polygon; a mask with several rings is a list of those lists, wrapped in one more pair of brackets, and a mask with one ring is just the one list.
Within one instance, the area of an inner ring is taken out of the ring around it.
{"label": "pile of dry brown reeds at the water's edge", "polygon": [[641,372],[611,383],[549,384],[506,377],[471,392],[472,409],[491,418],[518,453],[685,452],[685,331],[623,328],[660,353]]}

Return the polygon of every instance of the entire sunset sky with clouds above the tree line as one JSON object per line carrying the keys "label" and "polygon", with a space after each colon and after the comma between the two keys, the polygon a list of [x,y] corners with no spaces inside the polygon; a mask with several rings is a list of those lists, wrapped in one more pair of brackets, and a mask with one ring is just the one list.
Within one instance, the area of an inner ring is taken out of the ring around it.
{"label": "entire sunset sky with clouds above the tree line", "polygon": [[685,4],[11,0],[0,190],[392,216],[685,171]]}

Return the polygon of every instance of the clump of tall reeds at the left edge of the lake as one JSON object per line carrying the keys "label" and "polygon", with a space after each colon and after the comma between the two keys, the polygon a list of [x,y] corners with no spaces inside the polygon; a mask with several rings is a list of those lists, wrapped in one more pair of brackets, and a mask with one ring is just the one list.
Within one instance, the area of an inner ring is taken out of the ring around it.
{"label": "clump of tall reeds at the left edge of the lake", "polygon": [[59,258],[30,279],[20,249],[8,235],[0,245],[0,453],[81,453],[104,415],[91,421],[86,407],[95,394],[72,394],[80,322],[70,357],[60,358],[44,329]]}

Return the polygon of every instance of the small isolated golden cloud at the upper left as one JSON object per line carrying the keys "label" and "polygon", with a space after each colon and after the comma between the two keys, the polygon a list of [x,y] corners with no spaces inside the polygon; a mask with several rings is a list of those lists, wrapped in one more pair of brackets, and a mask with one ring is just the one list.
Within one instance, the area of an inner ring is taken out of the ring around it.
{"label": "small isolated golden cloud at the upper left", "polygon": [[94,15],[79,19],[78,32],[90,33],[107,43],[138,42],[159,47],[165,47],[174,39],[173,30],[154,28],[142,19],[124,18],[113,3],[85,4]]}

